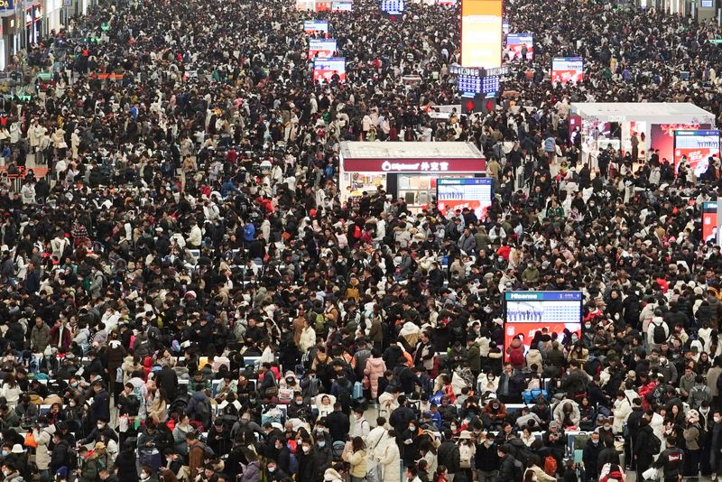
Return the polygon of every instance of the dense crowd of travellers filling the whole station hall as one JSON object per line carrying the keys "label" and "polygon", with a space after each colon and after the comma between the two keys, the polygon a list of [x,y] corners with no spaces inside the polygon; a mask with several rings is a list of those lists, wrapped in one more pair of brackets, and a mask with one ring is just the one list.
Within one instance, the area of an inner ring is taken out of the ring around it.
{"label": "dense crowd of travellers filling the whole station hall", "polygon": [[[494,112],[432,122],[458,103],[458,8],[102,2],[14,57],[53,75],[0,99],[3,482],[722,470],[722,254],[700,220],[719,159],[697,179],[609,151],[594,171],[568,123],[580,100],[719,116],[719,27],[508,2],[533,60],[508,62]],[[344,82],[312,81],[314,18]],[[584,81],[551,85],[577,55]],[[494,203],[342,200],[342,141],[474,143]],[[505,346],[523,290],[582,292],[582,328]]]}

